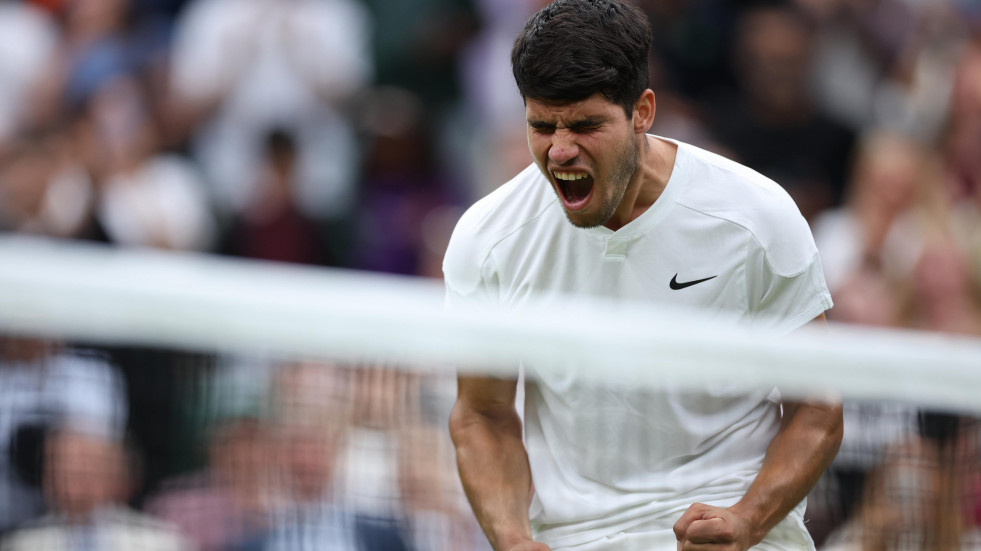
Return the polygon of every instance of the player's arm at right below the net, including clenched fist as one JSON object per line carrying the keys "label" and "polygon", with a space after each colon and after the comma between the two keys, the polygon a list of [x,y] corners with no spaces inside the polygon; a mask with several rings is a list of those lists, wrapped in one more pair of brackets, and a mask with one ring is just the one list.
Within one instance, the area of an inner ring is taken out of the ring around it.
{"label": "player's arm at right below the net, including clenched fist", "polygon": [[759,543],[814,487],[842,434],[840,404],[784,402],[780,429],[746,495],[728,509],[692,505],[674,526],[678,549],[745,551]]}

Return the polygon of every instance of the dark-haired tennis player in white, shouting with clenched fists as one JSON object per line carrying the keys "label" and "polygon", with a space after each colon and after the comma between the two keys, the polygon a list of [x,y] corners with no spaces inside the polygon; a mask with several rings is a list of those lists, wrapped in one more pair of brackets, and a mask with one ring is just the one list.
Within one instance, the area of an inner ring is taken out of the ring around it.
{"label": "dark-haired tennis player in white, shouting with clenched fists", "polygon": [[[804,219],[774,182],[647,134],[651,30],[621,0],[556,0],[512,66],[534,164],[471,207],[444,259],[449,305],[601,295],[790,332],[831,307]],[[581,331],[588,337],[589,320]],[[534,373],[463,376],[460,476],[497,551],[814,549],[804,498],[842,435],[837,404],[712,382],[699,393]],[[793,366],[786,366],[793,369]]]}

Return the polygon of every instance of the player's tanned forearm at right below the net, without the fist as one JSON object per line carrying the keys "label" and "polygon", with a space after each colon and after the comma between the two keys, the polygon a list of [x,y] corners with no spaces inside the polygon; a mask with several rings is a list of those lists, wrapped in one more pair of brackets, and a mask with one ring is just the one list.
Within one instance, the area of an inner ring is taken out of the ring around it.
{"label": "player's tanned forearm at right below the net, without the fist", "polygon": [[807,496],[838,453],[841,437],[840,405],[785,403],[784,420],[759,475],[730,508],[749,521],[754,542]]}

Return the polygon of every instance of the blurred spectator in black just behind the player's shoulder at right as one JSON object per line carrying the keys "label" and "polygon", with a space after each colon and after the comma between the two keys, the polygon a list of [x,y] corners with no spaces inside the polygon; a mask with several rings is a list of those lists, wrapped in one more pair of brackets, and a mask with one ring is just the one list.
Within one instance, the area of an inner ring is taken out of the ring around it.
{"label": "blurred spectator in black just behind the player's shoulder at right", "polygon": [[738,93],[713,98],[710,126],[740,162],[780,182],[808,220],[841,201],[854,136],[811,100],[811,29],[788,7],[739,21]]}

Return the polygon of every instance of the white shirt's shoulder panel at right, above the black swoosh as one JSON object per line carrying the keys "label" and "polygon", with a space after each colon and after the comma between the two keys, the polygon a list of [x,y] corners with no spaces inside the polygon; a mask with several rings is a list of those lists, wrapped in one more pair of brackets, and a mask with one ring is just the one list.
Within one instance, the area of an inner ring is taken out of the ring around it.
{"label": "white shirt's shoulder panel at right, above the black swoosh", "polygon": [[745,229],[774,272],[805,270],[817,254],[807,221],[779,184],[715,153],[679,144],[690,163],[678,204]]}

